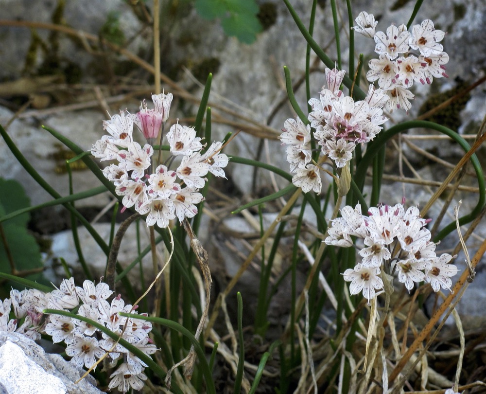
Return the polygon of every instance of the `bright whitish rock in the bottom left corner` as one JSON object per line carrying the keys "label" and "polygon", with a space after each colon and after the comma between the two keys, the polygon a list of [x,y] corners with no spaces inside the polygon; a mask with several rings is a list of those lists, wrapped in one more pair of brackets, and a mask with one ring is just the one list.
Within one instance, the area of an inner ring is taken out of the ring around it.
{"label": "bright whitish rock in the bottom left corner", "polygon": [[0,393],[101,393],[92,376],[74,384],[83,375],[83,369],[47,354],[24,335],[0,332]]}

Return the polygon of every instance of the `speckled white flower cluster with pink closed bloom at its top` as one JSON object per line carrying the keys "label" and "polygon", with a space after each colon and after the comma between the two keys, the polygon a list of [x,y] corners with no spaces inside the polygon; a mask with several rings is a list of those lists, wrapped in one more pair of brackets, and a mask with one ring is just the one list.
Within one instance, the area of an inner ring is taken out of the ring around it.
{"label": "speckled white flower cluster with pink closed bloom at its top", "polygon": [[[121,111],[104,121],[104,130],[110,135],[104,135],[91,149],[91,154],[101,161],[116,161],[103,173],[116,186],[117,195],[123,196],[123,210],[133,207],[140,215],[147,215],[147,226],[157,224],[161,228],[167,227],[175,216],[182,221],[196,215],[195,204],[203,200],[199,189],[204,187],[205,177],[211,173],[225,178],[223,168],[228,164],[228,157],[220,153],[221,142],[207,147],[196,137],[194,128],[176,123],[165,136],[171,152],[166,163],[178,162],[178,167],[171,170],[161,163],[152,165],[152,143],[161,127],[163,130],[172,98],[170,93],[154,94],[154,109],[148,109],[144,103],[136,114]],[[134,125],[148,141],[143,147],[133,139]],[[175,161],[176,158],[181,159]]]}

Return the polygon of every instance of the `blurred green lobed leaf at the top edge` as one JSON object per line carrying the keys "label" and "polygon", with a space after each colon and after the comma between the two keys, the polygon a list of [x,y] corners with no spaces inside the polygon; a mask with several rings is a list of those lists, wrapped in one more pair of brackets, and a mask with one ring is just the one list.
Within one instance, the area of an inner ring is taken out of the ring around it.
{"label": "blurred green lobed leaf at the top edge", "polygon": [[262,31],[255,0],[196,0],[195,7],[202,18],[221,18],[225,33],[245,44],[253,43]]}

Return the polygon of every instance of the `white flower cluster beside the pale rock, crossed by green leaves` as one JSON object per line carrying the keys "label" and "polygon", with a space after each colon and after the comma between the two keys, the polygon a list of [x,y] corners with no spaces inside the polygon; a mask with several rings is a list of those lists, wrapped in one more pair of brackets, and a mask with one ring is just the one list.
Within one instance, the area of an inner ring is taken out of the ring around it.
{"label": "white flower cluster beside the pale rock, crossed by green leaves", "polygon": [[[103,357],[113,347],[115,341],[96,327],[78,319],[61,315],[45,315],[44,309],[72,311],[102,324],[110,331],[121,335],[143,353],[150,355],[157,350],[148,336],[152,323],[142,319],[122,317],[119,312],[137,313],[132,305],[125,305],[121,296],[111,302],[107,299],[113,294],[107,284],[85,281],[83,287],[74,285],[74,279],[65,279],[58,289],[44,293],[35,289],[11,290],[10,298],[0,302],[0,331],[18,332],[32,340],[41,334],[52,336],[54,343],[66,343],[66,354],[78,367],[91,368],[96,360]],[[11,308],[14,319],[10,319]],[[132,312],[131,312],[132,311]],[[126,326],[126,327],[125,327]],[[147,366],[142,360],[117,344],[109,353],[110,367],[117,369],[111,374],[109,389],[118,388],[127,392],[131,388],[141,390],[147,376],[143,370]]]}

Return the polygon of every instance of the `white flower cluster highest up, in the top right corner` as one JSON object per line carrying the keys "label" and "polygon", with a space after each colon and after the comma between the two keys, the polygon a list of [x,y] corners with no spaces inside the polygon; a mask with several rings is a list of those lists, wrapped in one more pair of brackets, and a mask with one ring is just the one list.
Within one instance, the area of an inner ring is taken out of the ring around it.
{"label": "white flower cluster highest up, in the top right corner", "polygon": [[[412,32],[405,25],[391,25],[384,32],[375,32],[378,21],[366,12],[356,18],[354,31],[375,40],[375,52],[378,59],[369,61],[370,70],[366,78],[370,82],[378,81],[378,86],[390,98],[386,109],[390,112],[397,108],[408,111],[414,94],[409,90],[415,82],[431,84],[434,77],[447,77],[444,65],[449,62],[449,55],[443,52],[439,42],[445,33],[434,29],[434,22],[424,20],[412,26]],[[410,50],[418,50],[415,55]]]}

